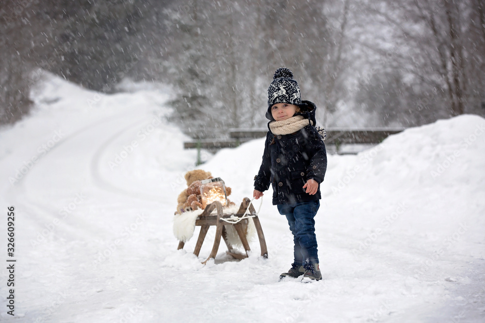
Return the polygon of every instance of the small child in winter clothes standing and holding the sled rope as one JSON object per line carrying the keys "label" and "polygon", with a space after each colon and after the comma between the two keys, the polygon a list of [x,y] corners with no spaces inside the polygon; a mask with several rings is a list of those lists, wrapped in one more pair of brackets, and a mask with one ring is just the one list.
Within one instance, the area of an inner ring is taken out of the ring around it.
{"label": "small child in winter clothes standing and holding the sled rope", "polygon": [[320,207],[320,183],[327,167],[323,138],[314,127],[315,109],[302,101],[300,88],[287,68],[275,72],[268,88],[268,131],[263,160],[254,178],[255,199],[273,185],[273,205],[286,215],[294,242],[294,262],[280,275],[320,280],[316,215]]}

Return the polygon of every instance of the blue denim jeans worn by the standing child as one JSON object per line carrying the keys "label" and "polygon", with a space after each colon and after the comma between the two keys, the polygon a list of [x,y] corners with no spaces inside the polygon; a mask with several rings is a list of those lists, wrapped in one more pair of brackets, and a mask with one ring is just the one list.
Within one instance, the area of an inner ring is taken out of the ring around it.
{"label": "blue denim jeans worn by the standing child", "polygon": [[286,215],[294,242],[294,264],[318,263],[315,220],[320,200],[278,204],[278,211]]}

